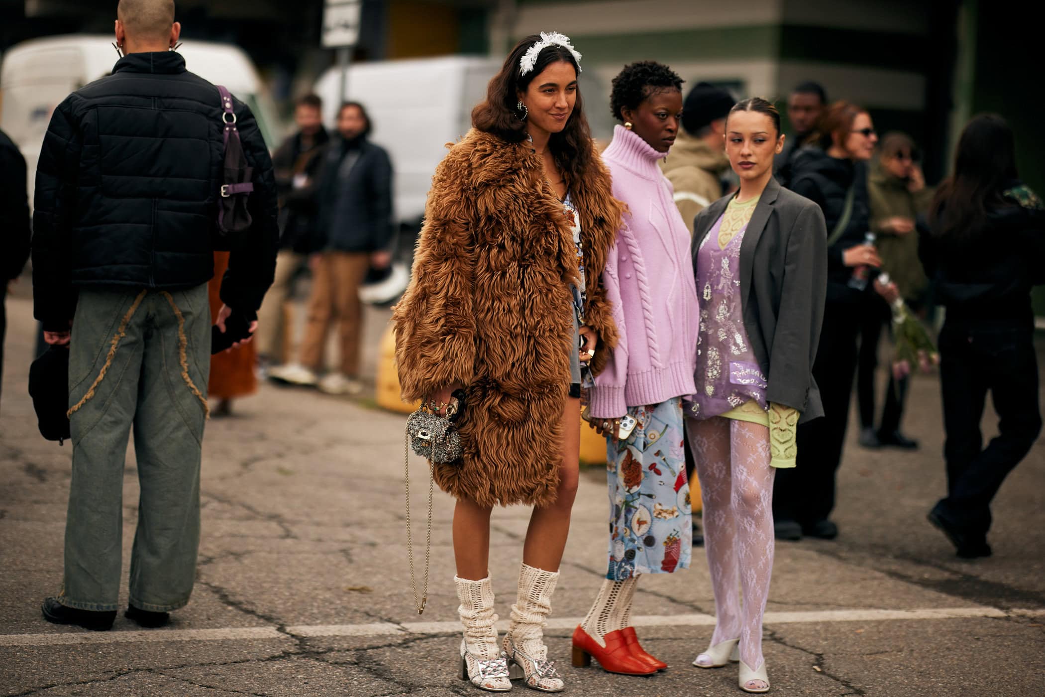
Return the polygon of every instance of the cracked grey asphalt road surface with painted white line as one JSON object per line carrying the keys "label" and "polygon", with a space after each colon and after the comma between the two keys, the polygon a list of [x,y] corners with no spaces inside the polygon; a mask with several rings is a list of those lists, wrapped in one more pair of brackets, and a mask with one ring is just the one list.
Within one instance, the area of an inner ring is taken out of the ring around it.
{"label": "cracked grey asphalt road surface with painted white line", "polygon": [[[452,501],[437,492],[428,609],[418,617],[405,551],[403,417],[304,390],[262,386],[236,403],[235,416],[209,422],[198,581],[168,627],[141,630],[119,617],[111,631],[88,632],[44,622],[40,603],[62,578],[70,447],[37,433],[25,390],[30,303],[8,298],[7,307],[0,695],[480,694],[459,675]],[[372,368],[387,313],[369,319]],[[944,490],[935,378],[912,387],[906,431],[922,441],[916,452],[861,449],[853,431],[834,516],[841,535],[776,547],[765,628],[771,694],[1045,694],[1045,447],[1035,446],[996,501],[994,556],[963,561],[925,520]],[[423,540],[426,481],[417,461],[414,472],[414,532]],[[137,487],[132,451],[125,565]],[[491,572],[502,618],[528,514],[494,512]],[[735,666],[690,665],[714,623],[702,550],[689,571],[638,585],[634,624],[668,671],[623,677],[570,665],[570,635],[605,572],[606,516],[605,472],[597,467],[582,477],[547,631],[566,694],[741,694]]]}

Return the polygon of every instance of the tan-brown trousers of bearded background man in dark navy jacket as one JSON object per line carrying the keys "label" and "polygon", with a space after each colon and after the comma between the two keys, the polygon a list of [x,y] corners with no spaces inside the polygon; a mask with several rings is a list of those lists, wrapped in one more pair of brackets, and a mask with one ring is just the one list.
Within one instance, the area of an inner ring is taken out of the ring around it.
{"label": "tan-brown trousers of bearded background man in dark navy jacket", "polygon": [[315,371],[324,368],[323,349],[327,330],[338,321],[341,336],[341,372],[359,374],[359,340],[363,336],[363,305],[359,285],[370,268],[365,252],[324,252],[312,275],[308,300],[308,324],[301,344],[301,365]]}

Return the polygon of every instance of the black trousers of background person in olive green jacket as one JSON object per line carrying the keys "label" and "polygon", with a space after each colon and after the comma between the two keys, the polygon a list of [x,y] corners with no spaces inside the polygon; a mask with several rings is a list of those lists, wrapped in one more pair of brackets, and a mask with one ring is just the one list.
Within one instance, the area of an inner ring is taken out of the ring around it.
{"label": "black trousers of background person in olive green jacket", "polygon": [[[860,405],[860,426],[875,427],[875,372],[878,369],[878,345],[882,329],[890,328],[889,306],[878,294],[867,295],[863,301],[860,320],[860,353],[856,377],[856,398]],[[891,332],[890,332],[891,333]],[[882,420],[878,432],[886,436],[900,431],[900,420],[907,399],[908,378],[897,380],[889,370],[889,385],[885,390]]]}

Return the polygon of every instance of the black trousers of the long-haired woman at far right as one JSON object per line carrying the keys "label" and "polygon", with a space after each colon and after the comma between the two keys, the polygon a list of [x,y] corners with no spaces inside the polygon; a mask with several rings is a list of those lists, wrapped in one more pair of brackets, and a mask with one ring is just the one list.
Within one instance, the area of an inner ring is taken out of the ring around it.
{"label": "black trousers of the long-haired woman at far right", "polygon": [[[985,534],[991,501],[1041,433],[1034,330],[949,322],[939,355],[948,490],[939,506],[967,532]],[[988,392],[999,435],[984,448],[980,420]]]}

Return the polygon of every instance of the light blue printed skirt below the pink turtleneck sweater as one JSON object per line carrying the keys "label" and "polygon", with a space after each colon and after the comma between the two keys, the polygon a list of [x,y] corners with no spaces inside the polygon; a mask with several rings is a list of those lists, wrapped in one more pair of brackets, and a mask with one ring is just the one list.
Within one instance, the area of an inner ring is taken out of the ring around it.
{"label": "light blue printed skirt below the pink turtleneck sweater", "polygon": [[634,431],[607,441],[609,567],[606,578],[689,568],[693,549],[682,400],[629,406]]}

